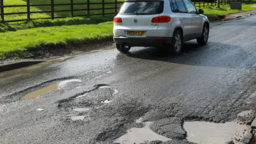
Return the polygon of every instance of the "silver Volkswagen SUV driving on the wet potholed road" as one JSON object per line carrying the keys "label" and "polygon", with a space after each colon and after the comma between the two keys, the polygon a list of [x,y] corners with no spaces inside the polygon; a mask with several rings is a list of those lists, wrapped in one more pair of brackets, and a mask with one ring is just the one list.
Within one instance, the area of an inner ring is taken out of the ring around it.
{"label": "silver Volkswagen SUV driving on the wet potholed road", "polygon": [[126,0],[114,18],[116,48],[127,53],[132,46],[156,46],[179,54],[183,42],[205,45],[209,20],[203,13],[189,0]]}

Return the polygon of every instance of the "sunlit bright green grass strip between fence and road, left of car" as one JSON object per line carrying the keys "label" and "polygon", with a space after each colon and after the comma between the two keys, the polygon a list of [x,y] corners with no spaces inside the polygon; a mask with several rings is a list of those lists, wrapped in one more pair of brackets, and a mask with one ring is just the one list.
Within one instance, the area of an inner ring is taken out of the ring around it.
{"label": "sunlit bright green grass strip between fence and road, left of car", "polygon": [[88,43],[113,35],[113,22],[98,25],[60,26],[33,28],[0,33],[0,59],[6,57],[25,58],[30,51],[41,46]]}

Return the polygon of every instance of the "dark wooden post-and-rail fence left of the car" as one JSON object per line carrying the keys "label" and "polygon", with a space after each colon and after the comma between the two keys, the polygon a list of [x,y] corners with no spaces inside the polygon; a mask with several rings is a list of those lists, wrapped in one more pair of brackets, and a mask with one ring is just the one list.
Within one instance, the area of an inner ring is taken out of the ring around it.
{"label": "dark wooden post-and-rail fence left of the car", "polygon": [[[1,21],[2,22],[18,22],[18,21],[29,21],[29,20],[34,20],[30,19],[30,14],[33,13],[51,13],[50,18],[39,18],[39,19],[59,19],[59,18],[67,18],[66,17],[55,17],[54,12],[70,12],[69,17],[90,17],[92,15],[102,15],[105,16],[107,14],[117,14],[117,9],[119,7],[117,6],[118,4],[122,4],[123,2],[117,2],[117,0],[114,0],[113,2],[105,2],[105,0],[102,0],[101,3],[91,3],[90,0],[85,0],[86,3],[74,3],[73,0],[70,0],[70,3],[63,3],[63,4],[55,4],[54,0],[50,0],[51,4],[30,4],[30,0],[27,0],[26,5],[4,5],[4,0],[0,0],[0,15],[1,15]],[[101,8],[94,8],[91,9],[90,5],[99,5],[101,4]],[[115,6],[113,7],[105,7],[106,4],[113,4]],[[70,6],[69,10],[54,10],[54,6]],[[74,5],[87,5],[86,9],[74,9]],[[51,6],[50,11],[30,11],[31,6]],[[6,7],[27,7],[26,12],[12,12],[12,13],[5,13],[4,8]],[[106,13],[105,10],[115,10],[115,12],[112,13]],[[92,10],[102,10],[102,13],[97,13],[97,14],[90,14],[90,11]],[[74,15],[74,11],[86,11],[86,14],[82,15]],[[20,19],[20,20],[7,20],[5,21],[5,15],[14,15],[14,14],[27,14],[27,19]]]}

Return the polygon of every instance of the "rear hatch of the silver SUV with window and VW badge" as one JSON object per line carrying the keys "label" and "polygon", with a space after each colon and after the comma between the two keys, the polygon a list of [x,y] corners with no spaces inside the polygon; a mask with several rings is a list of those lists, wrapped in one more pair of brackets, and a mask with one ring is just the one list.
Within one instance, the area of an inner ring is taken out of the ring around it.
{"label": "rear hatch of the silver SUV with window and VW badge", "polygon": [[122,23],[118,30],[156,30],[158,23],[152,23],[154,17],[163,13],[164,1],[125,1],[118,15]]}

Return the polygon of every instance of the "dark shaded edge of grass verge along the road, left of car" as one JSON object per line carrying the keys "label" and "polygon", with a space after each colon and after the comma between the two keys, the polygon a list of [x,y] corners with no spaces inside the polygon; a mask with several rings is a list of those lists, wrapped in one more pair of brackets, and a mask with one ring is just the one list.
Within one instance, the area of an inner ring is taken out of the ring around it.
{"label": "dark shaded edge of grass verge along the road, left of car", "polygon": [[9,58],[19,59],[43,59],[50,57],[60,57],[74,52],[87,52],[101,49],[102,47],[113,44],[113,36],[105,36],[96,39],[67,39],[66,43],[39,43],[33,47],[26,47],[25,50],[15,50],[0,52],[0,60]]}

